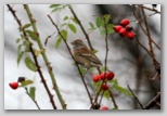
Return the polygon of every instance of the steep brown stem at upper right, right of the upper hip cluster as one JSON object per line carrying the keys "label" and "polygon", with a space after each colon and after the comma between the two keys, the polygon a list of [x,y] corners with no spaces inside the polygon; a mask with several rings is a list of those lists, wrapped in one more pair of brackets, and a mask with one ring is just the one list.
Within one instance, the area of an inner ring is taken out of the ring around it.
{"label": "steep brown stem at upper right, right of the upper hip cluster", "polygon": [[[144,9],[142,8],[141,5],[141,11],[142,11],[142,14],[144,16],[144,23],[145,23],[145,27],[146,27],[146,31],[147,31],[147,39],[149,39],[149,46],[150,46],[150,52],[153,56],[154,55],[154,51],[153,51],[153,46],[152,46],[152,40],[151,40],[151,34],[150,34],[150,29],[149,29],[149,24],[147,24],[147,20],[145,17],[145,12],[144,12]],[[153,59],[153,63],[154,63],[154,67],[156,67],[156,61]]]}

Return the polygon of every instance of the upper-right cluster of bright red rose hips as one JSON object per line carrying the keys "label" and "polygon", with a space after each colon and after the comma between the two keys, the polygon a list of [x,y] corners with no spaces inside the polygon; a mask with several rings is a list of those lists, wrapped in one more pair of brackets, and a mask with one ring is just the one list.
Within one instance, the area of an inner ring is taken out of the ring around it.
{"label": "upper-right cluster of bright red rose hips", "polygon": [[132,27],[129,25],[129,20],[125,18],[120,22],[120,25],[114,26],[114,30],[119,33],[121,37],[127,36],[128,39],[132,40],[134,37],[134,33],[132,31]]}

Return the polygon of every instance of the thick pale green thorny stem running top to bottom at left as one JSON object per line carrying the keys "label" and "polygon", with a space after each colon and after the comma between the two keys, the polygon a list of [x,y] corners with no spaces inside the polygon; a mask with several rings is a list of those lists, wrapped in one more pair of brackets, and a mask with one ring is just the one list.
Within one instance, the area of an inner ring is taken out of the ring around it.
{"label": "thick pale green thorny stem running top to bottom at left", "polygon": [[[41,43],[41,40],[40,40],[40,38],[39,38],[39,33],[38,33],[38,30],[37,30],[36,21],[35,21],[34,17],[33,17],[33,14],[31,14],[31,12],[30,12],[30,9],[29,9],[29,7],[28,7],[27,4],[24,4],[24,8],[25,8],[25,11],[26,11],[26,13],[27,13],[27,15],[28,15],[28,17],[29,17],[30,23],[33,24],[33,29],[34,29],[34,31],[35,31],[35,34],[37,34],[37,37],[38,37],[37,43],[38,43],[39,48],[40,48],[41,50],[43,50],[43,46],[42,46],[42,43]],[[56,95],[57,95],[57,98],[59,98],[59,100],[60,100],[60,102],[61,102],[61,105],[62,105],[63,109],[66,109],[66,104],[65,104],[65,102],[64,102],[64,100],[63,100],[63,98],[62,98],[62,94],[61,94],[60,90],[59,90],[59,87],[57,87],[57,83],[56,83],[54,74],[53,74],[53,72],[52,72],[52,67],[50,66],[50,62],[49,62],[49,60],[48,60],[48,57],[47,57],[47,55],[46,55],[46,52],[42,52],[41,54],[42,54],[42,57],[43,57],[43,60],[44,60],[44,62],[46,62],[46,65],[47,65],[47,67],[48,67],[48,72],[49,72],[49,75],[50,75],[51,80],[52,80],[52,83],[53,83],[53,89],[54,89],[54,91],[55,91],[55,93],[56,93]]]}

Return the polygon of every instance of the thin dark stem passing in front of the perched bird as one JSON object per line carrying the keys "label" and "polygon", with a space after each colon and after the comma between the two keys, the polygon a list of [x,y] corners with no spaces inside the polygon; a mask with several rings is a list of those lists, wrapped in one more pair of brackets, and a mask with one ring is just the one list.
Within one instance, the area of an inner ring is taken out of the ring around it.
{"label": "thin dark stem passing in front of the perched bird", "polygon": [[[87,93],[88,93],[88,96],[89,96],[89,99],[90,99],[90,103],[91,103],[91,105],[93,105],[91,94],[90,94],[90,92],[89,92],[89,90],[88,90],[88,87],[87,87],[87,83],[86,83],[86,81],[85,81],[85,79],[84,79],[84,75],[81,74],[80,68],[79,68],[79,66],[78,66],[78,64],[77,64],[75,57],[73,56],[73,53],[72,53],[72,51],[70,51],[70,48],[69,48],[69,46],[68,46],[66,39],[65,39],[65,38],[63,37],[63,35],[61,34],[61,31],[60,31],[57,25],[53,22],[52,17],[51,17],[50,15],[48,15],[48,17],[49,17],[49,20],[51,21],[51,23],[54,25],[54,27],[56,28],[57,34],[59,34],[59,35],[62,37],[62,39],[64,40],[65,46],[67,47],[68,52],[69,52],[72,59],[73,59],[74,62],[76,63],[77,69],[78,69],[79,75],[80,75],[80,78],[81,78],[81,80],[82,80],[82,82],[84,82],[84,86],[85,86],[85,88],[86,88],[86,90],[87,90]],[[88,70],[89,70],[89,69],[88,69]]]}

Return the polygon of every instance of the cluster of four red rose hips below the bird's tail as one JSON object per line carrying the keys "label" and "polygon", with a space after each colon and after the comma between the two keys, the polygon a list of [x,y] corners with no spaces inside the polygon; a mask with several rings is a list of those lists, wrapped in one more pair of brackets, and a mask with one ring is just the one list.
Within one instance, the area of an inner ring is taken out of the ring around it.
{"label": "cluster of four red rose hips below the bird's tail", "polygon": [[[113,78],[115,77],[115,74],[113,73],[113,72],[106,72],[106,73],[102,73],[101,75],[98,75],[98,74],[95,74],[95,75],[93,75],[93,81],[94,82],[98,82],[98,81],[100,81],[100,80],[112,80]],[[102,85],[102,90],[107,90],[108,89],[108,86],[107,86],[107,83],[106,82],[104,82],[103,85]]]}

